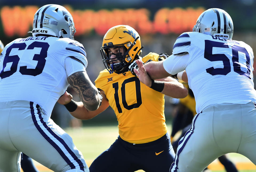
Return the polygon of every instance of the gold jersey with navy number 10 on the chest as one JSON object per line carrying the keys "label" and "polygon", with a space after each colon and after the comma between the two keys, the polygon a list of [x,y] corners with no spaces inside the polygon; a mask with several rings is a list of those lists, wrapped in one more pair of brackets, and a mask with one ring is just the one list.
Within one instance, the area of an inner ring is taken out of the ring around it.
{"label": "gold jersey with navy number 10 on the chest", "polygon": [[[158,61],[159,55],[149,53],[142,58]],[[167,132],[164,115],[164,94],[155,91],[132,75],[130,71],[109,74],[101,71],[95,80],[115,111],[120,137],[141,144],[159,139]]]}

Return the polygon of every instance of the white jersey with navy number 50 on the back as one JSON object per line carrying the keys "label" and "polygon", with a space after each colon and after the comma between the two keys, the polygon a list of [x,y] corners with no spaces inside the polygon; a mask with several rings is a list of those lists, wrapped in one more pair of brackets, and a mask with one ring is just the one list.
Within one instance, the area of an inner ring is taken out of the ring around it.
{"label": "white jersey with navy number 50 on the back", "polygon": [[251,47],[242,41],[186,32],[177,38],[163,66],[172,75],[186,70],[200,113],[216,103],[256,102],[253,58]]}

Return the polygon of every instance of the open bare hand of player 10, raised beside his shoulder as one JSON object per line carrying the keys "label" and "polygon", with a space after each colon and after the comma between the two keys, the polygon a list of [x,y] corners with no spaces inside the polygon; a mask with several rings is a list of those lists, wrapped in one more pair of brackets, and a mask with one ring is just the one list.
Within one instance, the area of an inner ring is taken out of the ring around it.
{"label": "open bare hand of player 10, raised beside his shoulder", "polygon": [[138,76],[139,80],[143,84],[147,85],[148,87],[151,87],[151,78],[147,74],[143,62],[140,60],[136,60],[136,63],[138,65],[138,69],[134,69],[134,73]]}

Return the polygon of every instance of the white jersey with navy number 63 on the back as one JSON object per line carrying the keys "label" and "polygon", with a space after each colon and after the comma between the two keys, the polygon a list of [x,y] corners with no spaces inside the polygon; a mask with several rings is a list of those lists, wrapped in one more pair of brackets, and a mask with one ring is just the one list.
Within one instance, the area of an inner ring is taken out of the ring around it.
{"label": "white jersey with navy number 63 on the back", "polygon": [[68,76],[85,71],[86,66],[85,49],[77,41],[44,36],[16,39],[0,56],[0,102],[36,102],[50,116],[69,85]]}

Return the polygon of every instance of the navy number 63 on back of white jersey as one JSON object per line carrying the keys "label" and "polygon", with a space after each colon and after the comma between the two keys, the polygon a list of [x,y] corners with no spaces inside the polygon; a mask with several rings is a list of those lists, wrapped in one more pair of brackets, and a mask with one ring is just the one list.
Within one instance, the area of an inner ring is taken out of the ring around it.
{"label": "navy number 63 on back of white jersey", "polygon": [[[18,48],[18,50],[25,50],[26,43],[14,43],[6,50],[5,57],[3,59],[3,69],[0,72],[0,77],[6,78],[11,76],[17,71],[18,63],[19,63],[19,56],[18,55],[10,55],[10,52],[14,48]],[[47,57],[47,50],[49,48],[49,44],[47,42],[38,42],[35,41],[27,47],[27,50],[32,50],[35,47],[42,48],[40,54],[34,54],[33,60],[38,61],[37,66],[34,69],[28,69],[27,66],[20,66],[19,72],[22,75],[31,75],[37,76],[42,73],[43,68],[45,67],[46,57]],[[6,64],[12,62],[11,68],[9,71],[4,71]]]}

